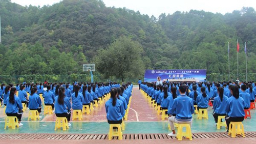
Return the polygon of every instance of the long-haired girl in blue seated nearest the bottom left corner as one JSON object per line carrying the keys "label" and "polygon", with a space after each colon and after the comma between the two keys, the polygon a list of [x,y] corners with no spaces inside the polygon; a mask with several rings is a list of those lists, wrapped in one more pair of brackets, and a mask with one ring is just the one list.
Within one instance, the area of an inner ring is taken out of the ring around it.
{"label": "long-haired girl in blue seated nearest the bottom left corner", "polygon": [[20,123],[23,114],[22,101],[16,97],[16,92],[16,88],[11,88],[10,95],[7,98],[5,113],[9,117],[16,116],[18,118],[18,126],[23,126],[23,124]]}

